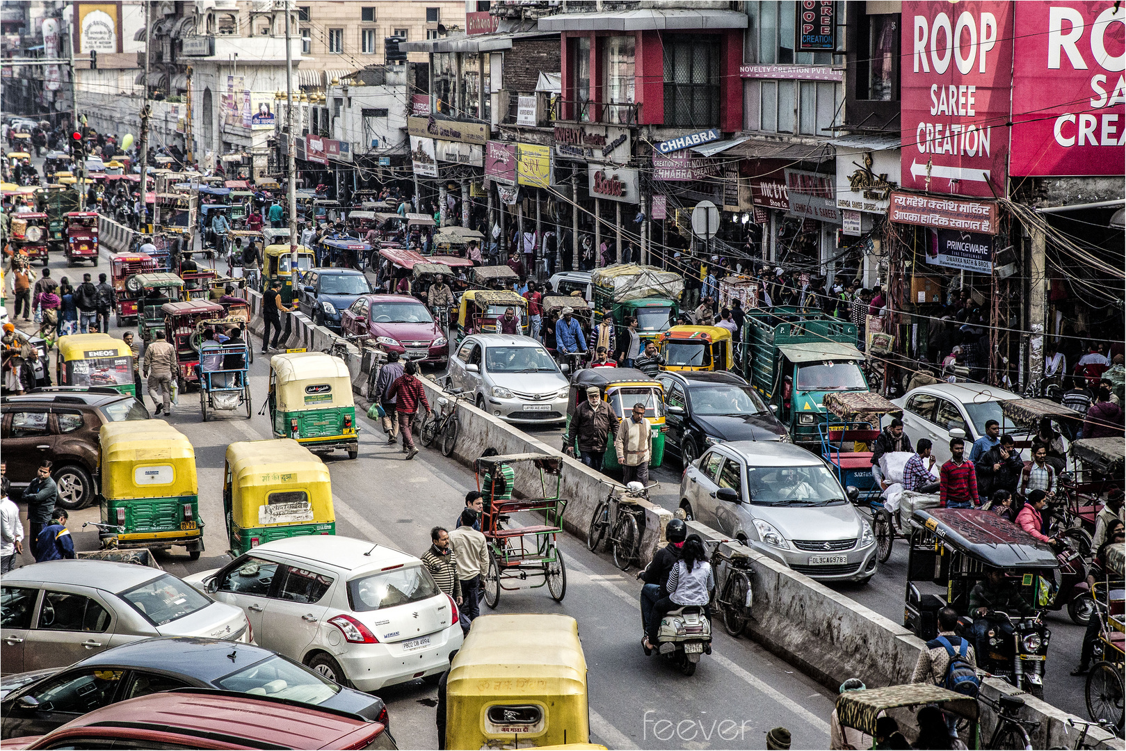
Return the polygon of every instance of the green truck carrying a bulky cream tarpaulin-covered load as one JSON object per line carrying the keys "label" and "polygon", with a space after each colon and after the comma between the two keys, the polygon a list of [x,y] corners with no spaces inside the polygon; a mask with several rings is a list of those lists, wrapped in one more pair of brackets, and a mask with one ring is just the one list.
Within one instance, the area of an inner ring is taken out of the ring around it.
{"label": "green truck carrying a bulky cream tarpaulin-covered load", "polygon": [[609,307],[620,330],[627,318],[637,319],[642,340],[668,331],[677,320],[683,279],[674,271],[655,266],[617,263],[595,269],[590,275],[595,309]]}

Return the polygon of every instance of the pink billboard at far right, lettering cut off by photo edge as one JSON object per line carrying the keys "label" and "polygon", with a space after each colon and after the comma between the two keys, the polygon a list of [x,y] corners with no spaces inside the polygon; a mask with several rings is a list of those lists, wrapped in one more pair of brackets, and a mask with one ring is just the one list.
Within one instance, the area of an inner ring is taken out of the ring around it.
{"label": "pink billboard at far right, lettering cut off by photo edge", "polygon": [[1121,175],[1126,8],[1018,2],[1010,173]]}

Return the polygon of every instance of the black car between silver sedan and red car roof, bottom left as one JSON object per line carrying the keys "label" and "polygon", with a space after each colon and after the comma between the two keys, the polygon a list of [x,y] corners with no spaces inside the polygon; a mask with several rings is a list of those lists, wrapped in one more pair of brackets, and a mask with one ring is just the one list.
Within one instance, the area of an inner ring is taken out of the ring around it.
{"label": "black car between silver sedan and red car roof, bottom left", "polygon": [[60,670],[6,676],[0,737],[44,735],[107,705],[185,687],[340,709],[387,725],[383,699],[333,683],[272,650],[170,636],[124,644]]}

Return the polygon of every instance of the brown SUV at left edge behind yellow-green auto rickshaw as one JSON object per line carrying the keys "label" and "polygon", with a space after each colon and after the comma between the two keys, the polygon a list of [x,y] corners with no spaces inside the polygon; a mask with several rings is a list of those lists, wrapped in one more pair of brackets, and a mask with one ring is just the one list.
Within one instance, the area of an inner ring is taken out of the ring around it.
{"label": "brown SUV at left edge behind yellow-green auto rickshaw", "polygon": [[149,410],[111,388],[54,386],[0,400],[3,459],[8,479],[23,490],[43,459],[54,463],[59,503],[81,509],[93,502],[98,431],[107,422],[148,420]]}

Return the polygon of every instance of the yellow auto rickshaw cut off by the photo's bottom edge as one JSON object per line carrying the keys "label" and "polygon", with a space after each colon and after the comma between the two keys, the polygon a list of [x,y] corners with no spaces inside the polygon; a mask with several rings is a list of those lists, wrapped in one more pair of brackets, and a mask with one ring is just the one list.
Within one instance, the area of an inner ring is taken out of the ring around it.
{"label": "yellow auto rickshaw cut off by the photo's bottom edge", "polygon": [[450,662],[444,698],[438,732],[447,749],[589,743],[579,624],[546,613],[477,617]]}

